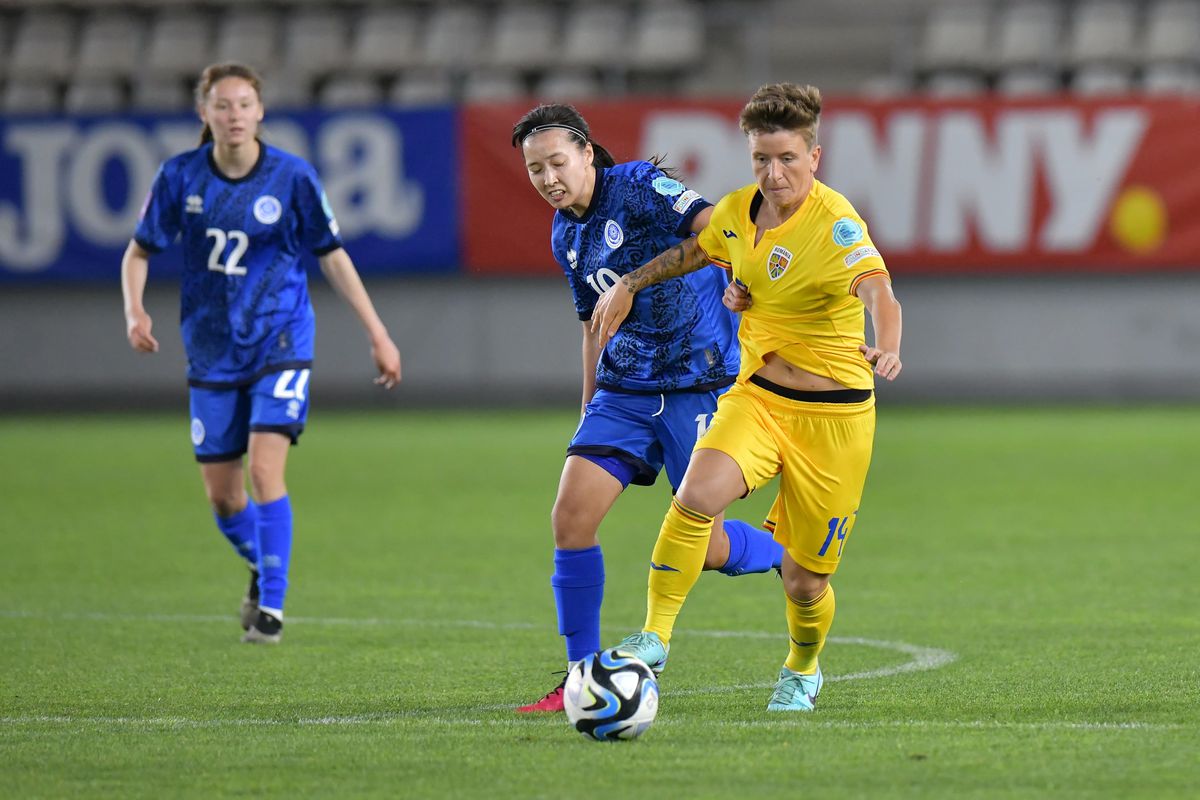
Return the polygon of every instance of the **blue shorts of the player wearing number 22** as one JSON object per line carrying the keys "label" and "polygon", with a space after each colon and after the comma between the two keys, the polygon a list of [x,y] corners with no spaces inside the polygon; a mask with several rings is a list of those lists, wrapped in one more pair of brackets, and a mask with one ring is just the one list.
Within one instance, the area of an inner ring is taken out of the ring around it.
{"label": "blue shorts of the player wearing number 22", "polygon": [[192,446],[202,464],[241,458],[250,433],[282,433],[295,444],[308,419],[308,369],[283,369],[246,386],[188,390]]}

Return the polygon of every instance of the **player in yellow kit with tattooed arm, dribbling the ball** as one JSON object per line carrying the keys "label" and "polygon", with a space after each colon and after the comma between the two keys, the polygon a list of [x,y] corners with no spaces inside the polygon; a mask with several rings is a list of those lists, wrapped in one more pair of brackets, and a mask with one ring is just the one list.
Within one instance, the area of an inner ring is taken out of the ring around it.
{"label": "player in yellow kit with tattooed arm, dribbling the ball", "polygon": [[[714,263],[744,309],[742,369],[696,443],[654,547],[642,632],[629,650],[666,663],[671,631],[700,576],[713,517],[780,475],[768,527],[784,546],[790,649],[769,710],[812,710],[817,656],[834,615],[829,577],[854,527],[875,437],[874,374],[900,374],[900,303],[853,206],[816,180],[821,94],[762,86],[742,110],[755,182],[726,194],[700,236],[614,284],[593,314],[601,343],[644,287]],[[871,313],[875,345],[864,336]],[[874,373],[874,374],[872,374]]]}

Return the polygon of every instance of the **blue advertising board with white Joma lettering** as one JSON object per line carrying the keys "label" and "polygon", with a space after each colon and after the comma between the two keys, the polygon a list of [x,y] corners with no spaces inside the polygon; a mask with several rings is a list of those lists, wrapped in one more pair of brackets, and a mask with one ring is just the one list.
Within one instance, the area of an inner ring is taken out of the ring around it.
{"label": "blue advertising board with white Joma lettering", "polygon": [[[320,174],[362,273],[461,269],[457,112],[270,113],[264,140]],[[116,281],[158,164],[194,115],[0,118],[0,281]],[[178,247],[151,279],[178,276]]]}

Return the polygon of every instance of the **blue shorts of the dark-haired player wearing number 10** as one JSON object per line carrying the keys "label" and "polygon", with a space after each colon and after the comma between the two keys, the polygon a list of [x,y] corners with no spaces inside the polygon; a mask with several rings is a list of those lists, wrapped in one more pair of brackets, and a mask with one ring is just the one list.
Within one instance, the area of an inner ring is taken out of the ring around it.
{"label": "blue shorts of the dark-haired player wearing number 10", "polygon": [[696,439],[708,429],[726,389],[666,395],[596,390],[566,453],[600,464],[623,486],[652,486],[666,467],[671,488],[678,489]]}

